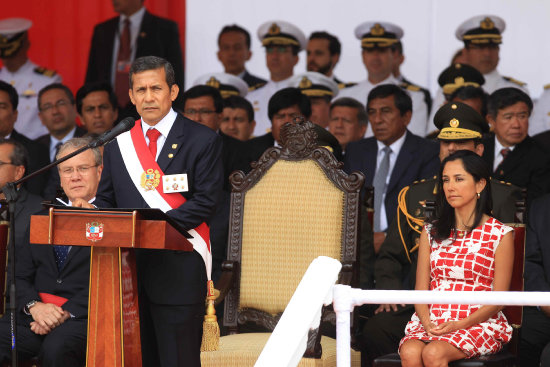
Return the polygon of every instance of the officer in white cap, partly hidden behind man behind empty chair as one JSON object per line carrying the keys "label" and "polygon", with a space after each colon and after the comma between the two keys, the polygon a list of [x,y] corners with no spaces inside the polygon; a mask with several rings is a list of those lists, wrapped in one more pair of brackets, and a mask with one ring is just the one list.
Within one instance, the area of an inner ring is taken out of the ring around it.
{"label": "officer in white cap, partly hidden behind man behind empty chair", "polygon": [[311,122],[328,128],[330,101],[338,95],[338,84],[315,71],[308,71],[292,77],[289,86],[298,88],[311,102]]}

